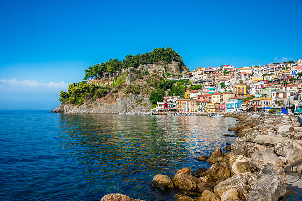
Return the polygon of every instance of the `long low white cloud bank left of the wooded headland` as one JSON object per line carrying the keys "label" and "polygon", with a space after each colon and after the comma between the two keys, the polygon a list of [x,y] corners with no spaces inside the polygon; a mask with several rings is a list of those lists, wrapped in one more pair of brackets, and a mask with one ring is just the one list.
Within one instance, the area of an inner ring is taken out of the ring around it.
{"label": "long low white cloud bank left of the wooded headland", "polygon": [[68,84],[65,82],[38,82],[36,80],[16,80],[15,78],[6,80],[0,79],[0,89],[4,91],[19,92],[50,92],[67,90]]}

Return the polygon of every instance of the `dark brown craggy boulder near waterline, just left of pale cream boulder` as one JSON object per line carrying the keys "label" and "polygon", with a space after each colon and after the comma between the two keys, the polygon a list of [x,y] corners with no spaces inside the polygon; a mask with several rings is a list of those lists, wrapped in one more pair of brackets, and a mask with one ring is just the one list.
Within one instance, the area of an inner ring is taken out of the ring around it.
{"label": "dark brown craggy boulder near waterline, just left of pale cream boulder", "polygon": [[222,176],[230,176],[230,168],[226,162],[213,164],[207,171],[205,171],[204,176],[207,176],[208,181],[216,181]]}

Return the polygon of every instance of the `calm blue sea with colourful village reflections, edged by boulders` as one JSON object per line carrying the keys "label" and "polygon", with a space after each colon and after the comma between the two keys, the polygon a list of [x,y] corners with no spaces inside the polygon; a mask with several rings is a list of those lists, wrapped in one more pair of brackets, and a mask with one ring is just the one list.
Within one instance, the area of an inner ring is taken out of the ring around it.
{"label": "calm blue sea with colourful village reflections, edged by boulders", "polygon": [[149,201],[175,192],[151,186],[235,137],[234,118],[0,111],[0,200],[98,201],[122,193]]}

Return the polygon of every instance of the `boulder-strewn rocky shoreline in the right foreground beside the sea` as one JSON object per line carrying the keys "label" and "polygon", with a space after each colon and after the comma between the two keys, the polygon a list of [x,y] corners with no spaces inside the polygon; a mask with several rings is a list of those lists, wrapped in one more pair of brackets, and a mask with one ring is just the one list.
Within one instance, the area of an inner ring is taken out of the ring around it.
{"label": "boulder-strewn rocky shoreline in the right foreground beside the sea", "polygon": [[[199,115],[206,115],[199,114]],[[155,175],[152,185],[178,189],[177,201],[278,201],[286,194],[286,174],[302,169],[302,128],[297,116],[225,113],[238,118],[238,138],[208,156],[212,164],[192,173],[183,168],[170,178]],[[263,117],[261,117],[263,116]],[[230,149],[229,149],[230,148]],[[196,159],[197,160],[197,159]],[[143,201],[121,194],[108,194],[101,201]]]}

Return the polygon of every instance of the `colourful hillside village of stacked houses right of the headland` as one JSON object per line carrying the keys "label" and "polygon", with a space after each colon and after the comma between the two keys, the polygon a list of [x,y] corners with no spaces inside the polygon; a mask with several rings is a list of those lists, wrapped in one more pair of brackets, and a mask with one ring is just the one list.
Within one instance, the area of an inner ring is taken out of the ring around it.
{"label": "colourful hillside village of stacked houses right of the headland", "polygon": [[264,66],[200,67],[181,78],[200,89],[186,89],[185,96],[165,96],[155,111],[302,113],[302,59]]}

